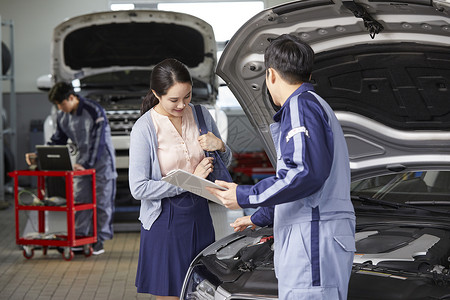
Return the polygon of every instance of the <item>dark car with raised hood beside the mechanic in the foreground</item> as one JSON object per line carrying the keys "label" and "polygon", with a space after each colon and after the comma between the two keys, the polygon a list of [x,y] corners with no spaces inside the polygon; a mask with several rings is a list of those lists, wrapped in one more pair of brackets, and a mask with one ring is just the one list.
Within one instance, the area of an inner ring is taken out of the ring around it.
{"label": "dark car with raised hood beside the mechanic in the foreground", "polygon": [[[344,131],[356,214],[348,299],[450,297],[450,2],[304,0],[268,8],[227,44],[217,74],[276,156],[264,50],[284,33],[315,51],[311,82]],[[181,299],[277,299],[271,227],[191,263]]]}

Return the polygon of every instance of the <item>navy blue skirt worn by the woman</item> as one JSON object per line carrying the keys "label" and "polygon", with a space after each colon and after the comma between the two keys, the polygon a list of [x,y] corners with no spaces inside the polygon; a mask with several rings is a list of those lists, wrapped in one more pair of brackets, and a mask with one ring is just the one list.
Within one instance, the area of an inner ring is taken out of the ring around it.
{"label": "navy blue skirt worn by the woman", "polygon": [[214,242],[214,227],[208,201],[190,192],[164,198],[161,206],[150,230],[141,227],[136,287],[138,293],[179,297],[191,261]]}

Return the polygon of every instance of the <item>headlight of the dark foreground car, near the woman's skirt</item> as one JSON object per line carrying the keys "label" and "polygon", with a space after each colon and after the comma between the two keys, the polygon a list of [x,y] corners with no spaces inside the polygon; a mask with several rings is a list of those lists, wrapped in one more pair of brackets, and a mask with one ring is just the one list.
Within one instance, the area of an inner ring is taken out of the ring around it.
{"label": "headlight of the dark foreground car, near the woman's skirt", "polygon": [[184,283],[184,300],[214,300],[217,286],[212,284],[201,272],[199,266],[194,267]]}

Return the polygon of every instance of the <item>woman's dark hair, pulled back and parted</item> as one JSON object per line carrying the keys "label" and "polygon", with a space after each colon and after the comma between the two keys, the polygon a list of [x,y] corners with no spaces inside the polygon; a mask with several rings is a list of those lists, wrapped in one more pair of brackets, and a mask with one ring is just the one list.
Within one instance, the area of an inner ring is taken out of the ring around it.
{"label": "woman's dark hair, pulled back and parted", "polygon": [[152,90],[161,97],[167,94],[167,91],[175,83],[189,82],[192,85],[191,74],[188,68],[180,61],[174,58],[168,58],[158,63],[150,76],[150,89],[142,100],[141,116],[158,104],[159,100],[153,94]]}

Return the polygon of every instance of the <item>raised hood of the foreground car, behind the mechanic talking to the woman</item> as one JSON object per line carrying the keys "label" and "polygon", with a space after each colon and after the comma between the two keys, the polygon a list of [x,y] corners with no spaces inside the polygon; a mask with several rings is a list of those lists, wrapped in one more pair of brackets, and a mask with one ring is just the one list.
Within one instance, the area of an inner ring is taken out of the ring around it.
{"label": "raised hood of the foreground car, behind the mechanic talking to the woman", "polygon": [[315,51],[312,83],[334,109],[352,175],[450,164],[450,1],[305,0],[264,10],[217,67],[272,163],[264,50],[292,33]]}

